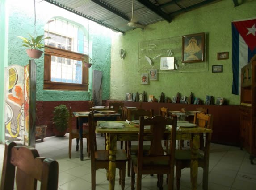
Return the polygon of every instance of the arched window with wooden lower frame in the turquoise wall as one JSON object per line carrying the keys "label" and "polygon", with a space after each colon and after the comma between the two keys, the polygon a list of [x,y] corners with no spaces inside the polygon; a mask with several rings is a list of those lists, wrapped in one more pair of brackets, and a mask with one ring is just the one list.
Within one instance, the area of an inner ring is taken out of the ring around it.
{"label": "arched window with wooden lower frame in the turquoise wall", "polygon": [[[87,28],[88,29],[88,28]],[[45,25],[44,89],[88,90],[88,68],[82,57],[88,55],[86,28],[66,20],[53,19]]]}

